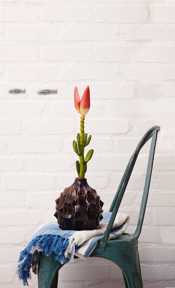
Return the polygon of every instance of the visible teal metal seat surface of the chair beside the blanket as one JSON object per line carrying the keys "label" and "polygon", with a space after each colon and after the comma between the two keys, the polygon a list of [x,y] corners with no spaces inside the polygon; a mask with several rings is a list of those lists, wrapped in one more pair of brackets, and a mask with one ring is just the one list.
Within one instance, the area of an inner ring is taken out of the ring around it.
{"label": "visible teal metal seat surface of the chair beside the blanket", "polygon": [[[98,254],[103,254],[103,252],[98,252],[98,244],[96,248],[92,251],[89,257],[97,256]],[[137,239],[133,236],[133,234],[123,233],[118,238],[114,240],[109,240],[106,244],[105,251],[125,251],[138,247]]]}

